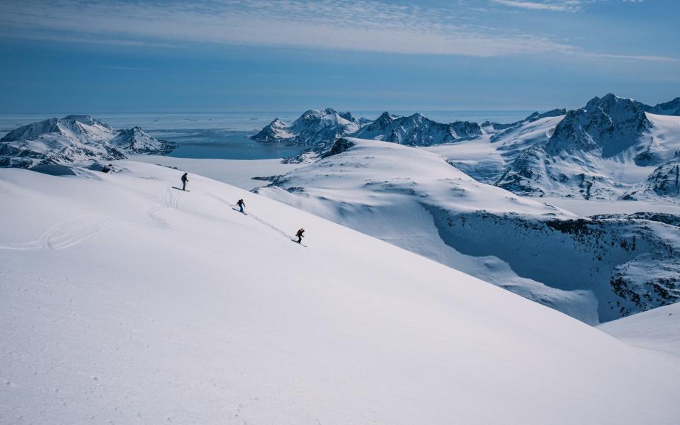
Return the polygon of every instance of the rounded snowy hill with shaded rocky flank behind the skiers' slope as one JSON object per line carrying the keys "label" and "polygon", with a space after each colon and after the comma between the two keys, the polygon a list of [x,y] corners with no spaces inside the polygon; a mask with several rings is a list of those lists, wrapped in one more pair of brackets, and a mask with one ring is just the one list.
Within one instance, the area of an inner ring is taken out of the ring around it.
{"label": "rounded snowy hill with shaded rocky flank behind the skiers' slope", "polygon": [[673,221],[579,217],[475,181],[422,149],[360,139],[336,147],[257,193],[589,324],[680,298],[680,229]]}

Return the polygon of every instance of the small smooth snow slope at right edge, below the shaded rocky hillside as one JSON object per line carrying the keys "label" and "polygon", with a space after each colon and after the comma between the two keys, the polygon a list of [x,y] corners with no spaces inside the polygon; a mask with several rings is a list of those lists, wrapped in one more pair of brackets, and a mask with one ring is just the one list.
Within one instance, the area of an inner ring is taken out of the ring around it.
{"label": "small smooth snow slope at right edge, below the shaded rocky hillside", "polygon": [[626,344],[680,362],[680,303],[623,317],[601,324],[598,329]]}

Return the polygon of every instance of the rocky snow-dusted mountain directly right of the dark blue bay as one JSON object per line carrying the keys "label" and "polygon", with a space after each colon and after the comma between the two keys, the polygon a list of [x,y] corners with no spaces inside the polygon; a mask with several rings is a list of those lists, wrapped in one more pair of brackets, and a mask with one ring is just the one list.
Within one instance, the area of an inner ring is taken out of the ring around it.
{"label": "rocky snow-dusted mountain directly right of the dark blue bay", "polygon": [[338,137],[356,132],[364,123],[365,120],[349,112],[338,112],[331,108],[321,111],[310,109],[291,125],[276,118],[259,133],[251,136],[251,139],[259,142],[288,142],[313,146],[332,143]]}

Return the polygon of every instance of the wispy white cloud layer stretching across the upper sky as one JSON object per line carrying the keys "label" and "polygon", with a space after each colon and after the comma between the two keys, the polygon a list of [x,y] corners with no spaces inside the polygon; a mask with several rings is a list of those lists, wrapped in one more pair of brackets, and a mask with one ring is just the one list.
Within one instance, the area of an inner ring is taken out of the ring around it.
{"label": "wispy white cloud layer stretching across the upper sky", "polygon": [[[491,1],[515,8],[572,11],[594,0]],[[475,20],[478,12],[472,10],[476,7],[465,1],[445,9],[375,0],[0,0],[0,37],[154,47],[200,42],[473,57],[555,52],[591,55],[545,35],[481,26]],[[609,57],[617,58],[632,57]],[[659,59],[650,56],[646,60]]]}

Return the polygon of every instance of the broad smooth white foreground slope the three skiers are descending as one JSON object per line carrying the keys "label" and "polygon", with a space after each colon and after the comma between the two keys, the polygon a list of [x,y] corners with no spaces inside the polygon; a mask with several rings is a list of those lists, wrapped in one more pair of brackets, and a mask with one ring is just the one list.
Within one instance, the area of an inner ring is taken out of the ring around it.
{"label": "broad smooth white foreground slope the three skiers are descending", "polygon": [[675,362],[273,200],[117,168],[0,169],[4,424],[677,423]]}

